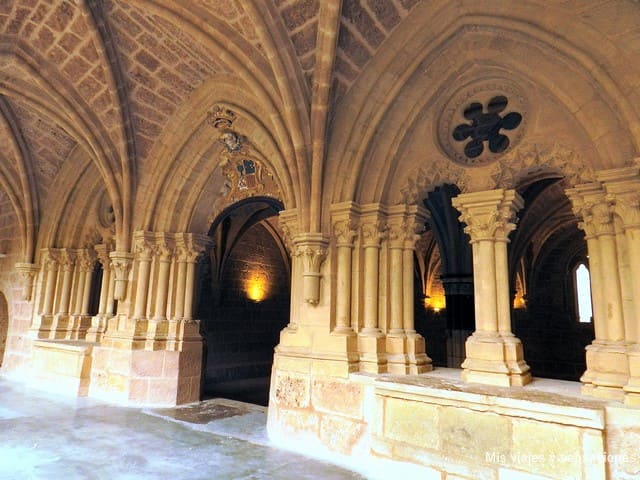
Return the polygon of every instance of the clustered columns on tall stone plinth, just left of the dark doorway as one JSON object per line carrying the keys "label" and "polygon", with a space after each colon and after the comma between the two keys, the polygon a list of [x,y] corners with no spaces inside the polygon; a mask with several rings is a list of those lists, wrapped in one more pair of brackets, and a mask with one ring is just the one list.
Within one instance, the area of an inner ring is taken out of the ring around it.
{"label": "clustered columns on tall stone plinth, just left of the dark doorway", "polygon": [[[101,344],[93,348],[93,396],[153,405],[199,399],[202,337],[192,316],[195,266],[205,244],[206,238],[189,233],[134,233],[135,281],[126,292],[126,306],[109,319]],[[171,268],[176,251],[184,268],[172,275],[179,270]],[[172,313],[174,305],[180,318]]]}

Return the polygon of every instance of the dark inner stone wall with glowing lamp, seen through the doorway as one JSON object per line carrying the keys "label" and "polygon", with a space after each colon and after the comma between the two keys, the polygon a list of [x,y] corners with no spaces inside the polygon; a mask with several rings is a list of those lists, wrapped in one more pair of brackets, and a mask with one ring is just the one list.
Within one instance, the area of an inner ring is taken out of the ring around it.
{"label": "dark inner stone wall with glowing lamp, seen through the doorway", "polygon": [[[231,250],[219,285],[205,287],[205,388],[268,377],[273,349],[289,321],[289,273],[273,237],[259,224],[251,227]],[[253,295],[264,298],[252,300]]]}

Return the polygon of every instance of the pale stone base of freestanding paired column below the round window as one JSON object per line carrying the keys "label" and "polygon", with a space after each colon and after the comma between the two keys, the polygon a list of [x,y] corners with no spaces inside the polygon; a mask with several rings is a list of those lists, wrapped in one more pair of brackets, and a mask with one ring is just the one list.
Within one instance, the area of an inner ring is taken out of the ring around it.
{"label": "pale stone base of freestanding paired column below the round window", "polygon": [[522,343],[517,337],[476,332],[467,339],[465,347],[463,381],[502,387],[531,382],[531,371],[524,361]]}

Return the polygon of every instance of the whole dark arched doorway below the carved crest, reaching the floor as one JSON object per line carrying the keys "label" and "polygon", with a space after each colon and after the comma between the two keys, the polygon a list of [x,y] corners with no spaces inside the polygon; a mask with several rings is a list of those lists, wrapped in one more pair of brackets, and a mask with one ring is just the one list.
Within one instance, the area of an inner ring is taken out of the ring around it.
{"label": "whole dark arched doorway below the carved crest, reaching the floor", "polygon": [[214,246],[199,301],[204,397],[268,403],[274,347],[289,322],[290,265],[280,210],[272,198],[250,198],[211,226]]}

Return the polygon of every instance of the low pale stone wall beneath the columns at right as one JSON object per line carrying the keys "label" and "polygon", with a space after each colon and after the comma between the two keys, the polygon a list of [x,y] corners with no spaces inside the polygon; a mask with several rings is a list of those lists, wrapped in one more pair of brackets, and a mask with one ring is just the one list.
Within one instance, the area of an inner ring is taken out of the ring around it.
{"label": "low pale stone wall beneath the columns at right", "polygon": [[501,388],[437,373],[341,379],[276,371],[271,395],[270,436],[305,453],[410,463],[424,478],[640,473],[640,410],[580,396],[573,382]]}

